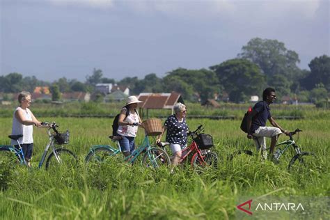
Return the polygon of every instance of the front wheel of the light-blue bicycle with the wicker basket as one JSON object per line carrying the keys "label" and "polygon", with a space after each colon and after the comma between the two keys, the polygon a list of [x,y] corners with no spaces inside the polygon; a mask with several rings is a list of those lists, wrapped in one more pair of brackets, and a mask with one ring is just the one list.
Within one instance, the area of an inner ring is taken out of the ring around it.
{"label": "front wheel of the light-blue bicycle with the wicker basket", "polygon": [[151,148],[144,154],[142,164],[147,167],[157,168],[159,166],[168,166],[171,164],[171,159],[165,150],[161,148]]}

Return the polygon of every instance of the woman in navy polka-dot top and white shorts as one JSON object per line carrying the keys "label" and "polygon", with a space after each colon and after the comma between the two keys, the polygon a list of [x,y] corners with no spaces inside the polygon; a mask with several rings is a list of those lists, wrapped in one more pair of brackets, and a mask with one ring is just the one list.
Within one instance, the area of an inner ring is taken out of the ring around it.
{"label": "woman in navy polka-dot top and white shorts", "polygon": [[[186,123],[186,106],[178,102],[174,105],[173,109],[175,114],[166,119],[162,134],[167,130],[166,141],[170,143],[173,152],[172,164],[176,166],[182,155],[182,149],[187,146],[189,128]],[[157,143],[162,139],[162,134],[157,137]]]}

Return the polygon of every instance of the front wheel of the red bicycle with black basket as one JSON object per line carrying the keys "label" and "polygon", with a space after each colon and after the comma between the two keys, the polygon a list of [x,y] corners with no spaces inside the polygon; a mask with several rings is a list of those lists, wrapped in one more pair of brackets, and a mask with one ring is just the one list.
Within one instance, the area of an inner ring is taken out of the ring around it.
{"label": "front wheel of the red bicycle with black basket", "polygon": [[191,159],[192,165],[196,171],[202,171],[205,168],[218,168],[218,156],[214,152],[205,152],[202,154],[203,159],[198,153]]}

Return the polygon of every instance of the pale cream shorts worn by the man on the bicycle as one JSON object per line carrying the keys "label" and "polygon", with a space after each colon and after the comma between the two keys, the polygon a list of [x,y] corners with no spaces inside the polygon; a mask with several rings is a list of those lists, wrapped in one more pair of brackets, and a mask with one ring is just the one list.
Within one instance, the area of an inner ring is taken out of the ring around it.
{"label": "pale cream shorts worn by the man on the bicycle", "polygon": [[266,150],[266,137],[272,138],[273,136],[278,136],[278,134],[282,134],[281,129],[278,127],[259,127],[256,129],[252,135],[257,137],[253,139],[257,150],[260,150],[260,148]]}

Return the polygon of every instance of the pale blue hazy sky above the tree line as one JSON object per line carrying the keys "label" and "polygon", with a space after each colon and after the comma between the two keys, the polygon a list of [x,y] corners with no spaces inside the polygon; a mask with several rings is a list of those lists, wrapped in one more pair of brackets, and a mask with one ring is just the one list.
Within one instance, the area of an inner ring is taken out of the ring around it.
{"label": "pale blue hazy sky above the tree line", "polygon": [[209,68],[252,38],[278,40],[307,69],[329,56],[329,0],[0,0],[0,75],[116,80]]}

